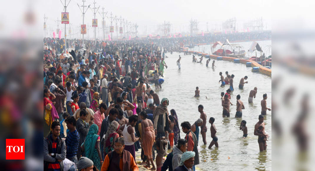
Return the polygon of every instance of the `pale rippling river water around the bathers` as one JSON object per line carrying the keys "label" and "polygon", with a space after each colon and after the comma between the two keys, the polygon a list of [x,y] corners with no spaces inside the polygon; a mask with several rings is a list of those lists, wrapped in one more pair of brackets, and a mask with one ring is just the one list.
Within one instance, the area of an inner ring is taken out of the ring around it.
{"label": "pale rippling river water around the bathers", "polygon": [[[271,45],[271,41],[269,42]],[[250,46],[251,42],[247,42],[247,44]],[[180,70],[176,66],[179,54],[182,56]],[[179,123],[188,121],[193,124],[200,116],[198,112],[200,104],[204,106],[204,112],[207,114],[207,145],[203,145],[202,136],[199,134],[200,164],[196,166],[196,170],[271,170],[271,111],[267,111],[264,121],[266,123],[265,131],[270,135],[266,151],[259,151],[258,136],[254,135],[254,126],[261,113],[260,101],[264,93],[268,95],[267,107],[271,108],[271,77],[254,73],[250,67],[246,67],[244,64],[215,60],[217,67],[212,69],[206,67],[207,59],[205,58],[202,63],[192,63],[192,55],[174,52],[173,54],[167,53],[166,56],[168,56],[165,59],[168,68],[164,69],[165,82],[162,84],[162,89],[157,90],[160,99],[163,97],[169,99],[168,109],[175,109]],[[211,64],[212,59],[209,66]],[[230,75],[235,75],[235,90],[231,94],[233,105],[230,106],[230,118],[222,118],[220,93],[226,92],[229,85],[220,87],[220,71],[224,77],[226,77],[225,71],[228,71]],[[244,76],[248,76],[248,84],[245,84],[244,89],[240,90],[238,83]],[[196,86],[199,87],[200,97],[194,97]],[[249,92],[254,87],[258,88],[258,92],[254,103],[249,104]],[[152,89],[155,89],[154,86]],[[243,118],[234,118],[237,94],[241,95],[245,106]],[[219,148],[213,146],[212,149],[208,149],[212,140],[210,137],[211,125],[208,122],[210,117],[215,118],[214,124],[217,128]],[[246,139],[242,138],[243,131],[239,130],[242,119],[247,121],[248,137]],[[185,134],[181,131],[180,136],[183,138]]]}

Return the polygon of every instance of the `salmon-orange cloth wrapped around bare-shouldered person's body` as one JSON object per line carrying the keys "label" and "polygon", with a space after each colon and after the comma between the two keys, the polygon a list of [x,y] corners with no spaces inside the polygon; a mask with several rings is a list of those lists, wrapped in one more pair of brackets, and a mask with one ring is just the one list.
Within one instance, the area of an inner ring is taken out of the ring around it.
{"label": "salmon-orange cloth wrapped around bare-shouldered person's body", "polygon": [[152,126],[144,128],[144,134],[142,138],[142,149],[144,155],[146,155],[148,159],[152,158],[152,146],[154,143],[154,139],[155,139],[154,128]]}

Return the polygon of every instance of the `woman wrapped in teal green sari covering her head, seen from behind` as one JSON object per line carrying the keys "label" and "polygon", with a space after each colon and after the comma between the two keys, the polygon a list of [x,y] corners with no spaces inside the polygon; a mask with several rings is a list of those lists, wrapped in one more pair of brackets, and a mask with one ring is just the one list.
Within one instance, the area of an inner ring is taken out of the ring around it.
{"label": "woman wrapped in teal green sari covering her head, seen from behind", "polygon": [[85,157],[91,159],[94,166],[100,170],[103,161],[100,153],[100,136],[97,135],[97,132],[98,126],[96,124],[91,125],[82,145],[82,150],[85,151]]}

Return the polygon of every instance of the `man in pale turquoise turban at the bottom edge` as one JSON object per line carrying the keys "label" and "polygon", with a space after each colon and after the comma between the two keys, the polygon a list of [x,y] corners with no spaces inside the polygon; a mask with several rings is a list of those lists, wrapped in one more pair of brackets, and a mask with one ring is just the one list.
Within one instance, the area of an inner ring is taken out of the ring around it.
{"label": "man in pale turquoise turban at the bottom edge", "polygon": [[193,151],[186,151],[180,158],[180,164],[174,171],[188,171],[192,170],[192,166],[194,165],[195,152]]}

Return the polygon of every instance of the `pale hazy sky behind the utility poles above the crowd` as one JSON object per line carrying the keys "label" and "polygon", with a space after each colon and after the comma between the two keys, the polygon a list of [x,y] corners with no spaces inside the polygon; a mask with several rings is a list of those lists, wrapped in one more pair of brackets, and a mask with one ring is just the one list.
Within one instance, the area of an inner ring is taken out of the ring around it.
{"label": "pale hazy sky behind the utility poles above the crowd", "polygon": [[[66,0],[68,3],[69,0]],[[93,0],[86,0],[85,5],[91,5],[93,8]],[[171,23],[171,32],[184,32],[189,29],[190,19],[199,21],[199,31],[207,30],[208,28],[221,27],[221,23],[227,19],[235,17],[237,20],[237,30],[243,29],[243,22],[263,17],[265,27],[271,29],[272,7],[271,0],[254,0],[254,1],[180,1],[180,0],[160,0],[160,1],[101,1],[96,0],[96,7],[104,7],[104,11],[108,11],[107,16],[110,17],[110,12],[113,16],[122,16],[125,20],[137,23],[139,25],[138,32],[144,33],[145,26],[147,34],[156,31],[157,25],[161,25],[164,20]],[[64,0],[63,0],[64,3]],[[70,23],[78,30],[78,26],[82,24],[82,13],[78,8],[77,3],[81,6],[82,0],[71,0],[67,7],[69,12]],[[57,17],[61,18],[63,6],[60,0],[44,0],[44,6],[47,8],[44,14],[48,17],[47,26],[49,29],[57,28]],[[85,24],[91,25],[93,12],[91,9],[85,14]],[[98,25],[101,25],[101,16],[96,14]],[[120,24],[118,24],[119,26]],[[217,25],[217,26],[215,26]],[[110,26],[110,19],[106,18],[106,26]],[[115,22],[113,23],[115,26]],[[59,28],[64,28],[64,25],[59,25]],[[67,26],[68,28],[68,26]],[[91,29],[92,30],[92,29]],[[116,30],[115,30],[116,31]],[[49,31],[50,32],[50,31]],[[72,31],[72,33],[74,33]],[[89,32],[92,36],[93,32]],[[51,34],[51,33],[50,33]],[[114,35],[114,34],[113,34]],[[116,35],[116,33],[115,33]]]}

